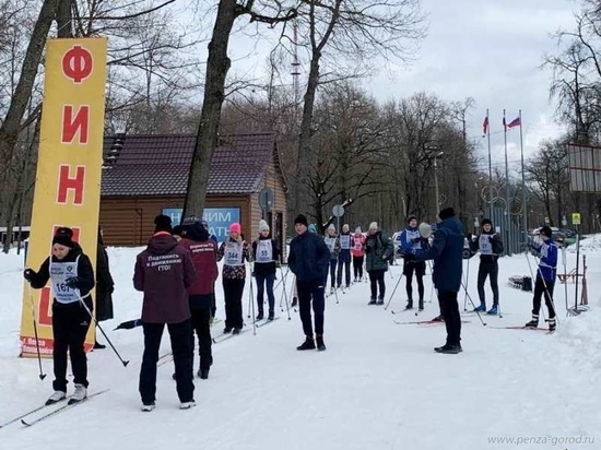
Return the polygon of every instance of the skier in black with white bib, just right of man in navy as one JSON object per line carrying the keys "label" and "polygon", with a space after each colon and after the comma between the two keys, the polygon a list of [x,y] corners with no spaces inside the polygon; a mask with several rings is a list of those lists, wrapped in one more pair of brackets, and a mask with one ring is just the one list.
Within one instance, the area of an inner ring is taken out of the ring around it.
{"label": "skier in black with white bib, just right of man in navy", "polygon": [[486,277],[491,277],[491,289],[493,291],[493,307],[487,312],[496,316],[498,312],[498,257],[503,253],[503,242],[498,233],[493,228],[493,222],[490,218],[482,221],[482,233],[472,240],[468,236],[472,251],[480,250],[480,268],[478,269],[478,296],[480,306],[474,311],[486,311],[486,297],[484,295],[484,283]]}

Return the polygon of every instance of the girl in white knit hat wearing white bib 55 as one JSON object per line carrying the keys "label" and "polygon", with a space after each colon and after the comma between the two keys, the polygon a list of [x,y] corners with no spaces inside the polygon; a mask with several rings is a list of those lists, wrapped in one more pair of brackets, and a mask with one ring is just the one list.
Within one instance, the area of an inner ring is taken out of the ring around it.
{"label": "girl in white knit hat wearing white bib 55", "polygon": [[269,235],[269,225],[266,221],[259,222],[259,238],[252,242],[252,261],[255,261],[255,280],[257,281],[257,305],[259,313],[257,320],[263,319],[263,295],[267,288],[269,304],[268,320],[275,315],[275,297],[273,283],[275,282],[275,267],[280,260],[280,248],[275,239]]}

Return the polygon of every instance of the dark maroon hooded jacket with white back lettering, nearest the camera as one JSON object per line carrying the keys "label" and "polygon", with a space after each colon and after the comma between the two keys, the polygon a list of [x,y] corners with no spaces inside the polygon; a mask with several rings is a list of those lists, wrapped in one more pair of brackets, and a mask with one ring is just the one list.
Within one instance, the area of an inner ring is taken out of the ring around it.
{"label": "dark maroon hooded jacket with white back lettering, nearest the camera", "polygon": [[156,233],[135,258],[133,287],[144,293],[142,322],[180,323],[190,318],[188,292],[197,281],[190,252],[166,232]]}

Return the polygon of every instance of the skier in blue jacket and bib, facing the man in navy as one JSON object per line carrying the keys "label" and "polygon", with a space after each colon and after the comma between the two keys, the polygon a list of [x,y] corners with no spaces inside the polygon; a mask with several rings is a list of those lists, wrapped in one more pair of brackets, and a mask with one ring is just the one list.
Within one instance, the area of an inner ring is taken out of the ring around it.
{"label": "skier in blue jacket and bib, facing the man in navy", "polygon": [[[406,220],[406,227],[401,233],[401,249],[403,254],[420,254],[426,249],[427,240],[420,235],[417,229],[417,217],[410,215]],[[405,276],[406,309],[413,309],[413,272],[417,281],[417,294],[420,311],[424,309],[424,274],[426,273],[425,261],[404,261],[403,275]]]}

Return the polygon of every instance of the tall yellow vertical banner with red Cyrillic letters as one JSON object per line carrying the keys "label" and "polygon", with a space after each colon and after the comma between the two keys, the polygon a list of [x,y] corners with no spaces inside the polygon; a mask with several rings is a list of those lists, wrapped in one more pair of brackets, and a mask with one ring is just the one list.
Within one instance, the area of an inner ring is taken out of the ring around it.
{"label": "tall yellow vertical banner with red Cyrillic letters", "polygon": [[[49,39],[39,154],[26,267],[37,271],[50,256],[55,229],[73,228],[83,252],[96,262],[103,162],[106,38]],[[33,307],[32,307],[33,305]],[[21,356],[52,355],[52,294],[24,283]],[[34,316],[32,316],[32,309]],[[89,351],[95,328],[85,340]]]}

